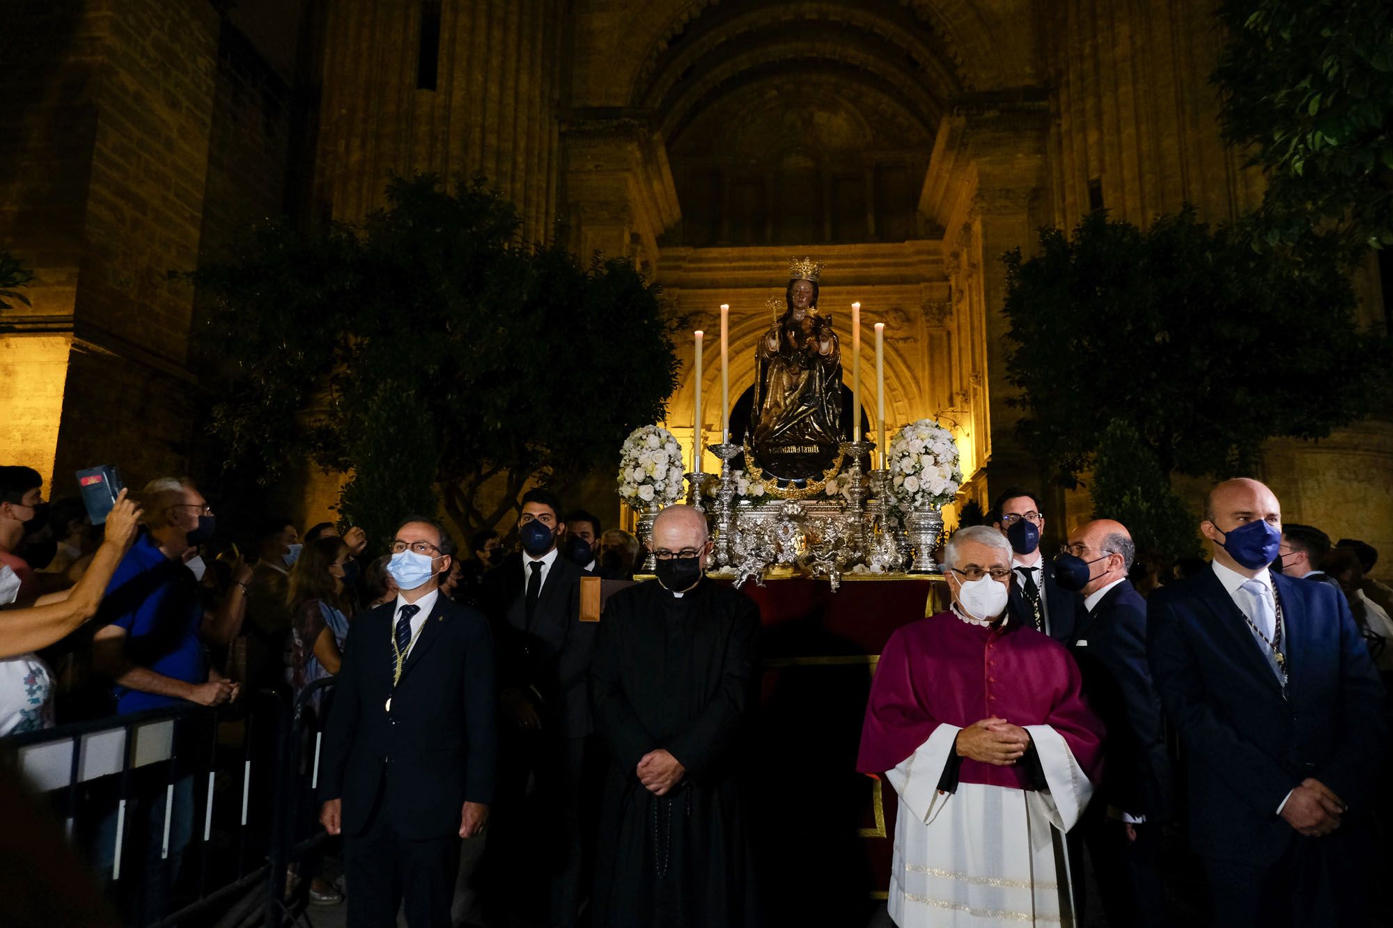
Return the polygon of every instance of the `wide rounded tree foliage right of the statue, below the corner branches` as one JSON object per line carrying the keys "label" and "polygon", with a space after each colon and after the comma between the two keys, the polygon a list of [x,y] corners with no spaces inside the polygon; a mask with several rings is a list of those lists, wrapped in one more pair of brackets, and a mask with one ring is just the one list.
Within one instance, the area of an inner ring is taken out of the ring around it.
{"label": "wide rounded tree foliage right of the statue, below the corner branches", "polygon": [[1367,414],[1386,343],[1354,329],[1333,259],[1255,252],[1191,210],[1149,229],[1085,217],[1004,256],[1009,380],[1021,438],[1071,481],[1124,418],[1162,472],[1251,471],[1273,436]]}

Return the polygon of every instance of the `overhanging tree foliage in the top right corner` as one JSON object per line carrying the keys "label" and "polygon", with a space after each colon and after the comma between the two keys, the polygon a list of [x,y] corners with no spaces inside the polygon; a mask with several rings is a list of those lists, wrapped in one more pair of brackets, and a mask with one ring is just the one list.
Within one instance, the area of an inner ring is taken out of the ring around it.
{"label": "overhanging tree foliage in the top right corner", "polygon": [[1269,181],[1261,237],[1393,242],[1393,3],[1222,0],[1219,17],[1224,135]]}

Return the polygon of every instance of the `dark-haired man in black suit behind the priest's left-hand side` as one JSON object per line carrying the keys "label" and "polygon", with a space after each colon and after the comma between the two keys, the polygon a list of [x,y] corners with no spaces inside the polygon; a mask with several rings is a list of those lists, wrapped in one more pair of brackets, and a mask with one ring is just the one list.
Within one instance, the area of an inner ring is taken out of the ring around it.
{"label": "dark-haired man in black suit behind the priest's left-hand side", "polygon": [[[584,863],[592,842],[581,829],[591,748],[589,663],[595,626],[582,623],[579,566],[561,556],[561,503],[546,489],[522,496],[522,550],[485,577],[483,601],[499,641],[503,705],[496,844],[488,849],[490,921],[520,915],[557,928],[579,917]],[[535,789],[528,791],[528,783]],[[506,833],[504,833],[506,832]],[[549,892],[539,893],[545,875]]]}

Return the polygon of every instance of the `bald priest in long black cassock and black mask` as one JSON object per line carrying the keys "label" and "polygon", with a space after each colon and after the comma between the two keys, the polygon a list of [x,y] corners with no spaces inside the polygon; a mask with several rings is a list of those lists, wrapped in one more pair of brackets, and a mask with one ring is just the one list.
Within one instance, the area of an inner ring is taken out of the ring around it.
{"label": "bald priest in long black cassock and black mask", "polygon": [[664,509],[657,580],[612,596],[591,663],[610,752],[596,928],[761,924],[738,745],[754,706],[759,610],[706,580],[706,518]]}

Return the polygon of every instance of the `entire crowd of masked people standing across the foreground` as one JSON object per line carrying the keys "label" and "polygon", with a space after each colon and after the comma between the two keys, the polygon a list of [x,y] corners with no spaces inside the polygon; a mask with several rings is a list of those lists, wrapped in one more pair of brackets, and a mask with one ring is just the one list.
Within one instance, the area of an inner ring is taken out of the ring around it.
{"label": "entire crowd of masked people standing across the foreground", "polygon": [[[1185,810],[1215,925],[1364,924],[1393,672],[1373,548],[1284,524],[1244,479],[1206,500],[1208,562],[1138,555],[1107,518],[1048,557],[1045,529],[1038,495],[1002,493],[946,543],[950,608],[879,656],[855,766],[898,796],[889,917],[1082,924],[1087,860],[1109,925],[1167,924],[1162,839]],[[376,542],[266,518],[238,546],[181,478],[92,527],[0,467],[0,736],[332,677],[305,699],[344,879],[306,857],[311,903],[347,902],[350,925],[762,924],[737,747],[759,612],[706,580],[705,516],[663,510],[656,580],[606,585],[600,621],[582,584],[632,581],[638,541],[547,489],[515,536],[460,556],[430,516]],[[150,921],[191,776],[160,796],[127,817],[150,830]],[[95,829],[99,871],[116,828]]]}

